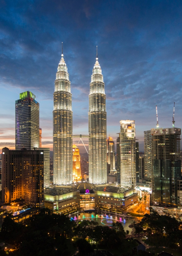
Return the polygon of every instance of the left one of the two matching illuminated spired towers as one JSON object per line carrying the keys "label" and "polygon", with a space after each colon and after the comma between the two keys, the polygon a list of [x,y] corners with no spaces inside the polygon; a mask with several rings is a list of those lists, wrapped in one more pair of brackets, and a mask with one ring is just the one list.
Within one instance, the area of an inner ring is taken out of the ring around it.
{"label": "left one of the two matching illuminated spired towers", "polygon": [[55,79],[53,110],[53,183],[73,183],[73,112],[67,66],[61,55]]}

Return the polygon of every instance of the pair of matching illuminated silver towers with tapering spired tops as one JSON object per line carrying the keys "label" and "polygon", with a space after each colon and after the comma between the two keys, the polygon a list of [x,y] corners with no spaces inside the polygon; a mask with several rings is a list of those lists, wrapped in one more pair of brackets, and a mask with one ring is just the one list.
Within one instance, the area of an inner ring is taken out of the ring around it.
{"label": "pair of matching illuminated silver towers with tapering spired tops", "polygon": [[[55,79],[53,110],[53,182],[73,183],[73,111],[67,66],[61,55]],[[93,68],[89,94],[89,182],[107,183],[106,95],[98,57]]]}

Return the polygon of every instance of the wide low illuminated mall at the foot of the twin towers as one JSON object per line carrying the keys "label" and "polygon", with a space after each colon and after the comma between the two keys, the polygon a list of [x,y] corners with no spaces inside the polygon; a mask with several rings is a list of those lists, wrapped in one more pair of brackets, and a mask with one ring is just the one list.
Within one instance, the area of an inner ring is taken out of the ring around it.
{"label": "wide low illuminated mall at the foot of the twin towers", "polygon": [[115,186],[94,186],[89,183],[44,191],[44,206],[52,212],[73,214],[76,211],[106,210],[122,213],[138,202],[135,189]]}

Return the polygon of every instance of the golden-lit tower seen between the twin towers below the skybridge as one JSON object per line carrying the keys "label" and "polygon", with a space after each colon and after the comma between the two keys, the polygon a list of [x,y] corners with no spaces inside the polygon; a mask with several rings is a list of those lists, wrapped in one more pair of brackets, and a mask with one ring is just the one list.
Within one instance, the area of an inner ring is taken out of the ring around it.
{"label": "golden-lit tower seen between the twin towers below the skybridge", "polygon": [[73,145],[73,181],[81,180],[80,150]]}

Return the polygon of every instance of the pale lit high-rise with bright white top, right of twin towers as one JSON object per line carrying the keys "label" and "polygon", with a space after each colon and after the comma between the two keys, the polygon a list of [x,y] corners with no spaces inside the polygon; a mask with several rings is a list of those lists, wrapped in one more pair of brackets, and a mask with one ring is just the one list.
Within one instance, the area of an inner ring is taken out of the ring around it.
{"label": "pale lit high-rise with bright white top, right of twin towers", "polygon": [[120,121],[121,186],[136,187],[135,121]]}

